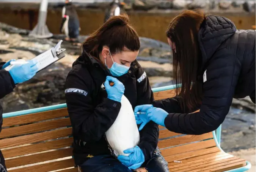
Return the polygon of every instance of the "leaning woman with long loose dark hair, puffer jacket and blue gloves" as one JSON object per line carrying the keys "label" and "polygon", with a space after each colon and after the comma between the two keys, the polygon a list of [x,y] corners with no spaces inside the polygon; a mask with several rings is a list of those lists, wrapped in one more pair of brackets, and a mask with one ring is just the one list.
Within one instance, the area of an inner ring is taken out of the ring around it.
{"label": "leaning woman with long loose dark hair, puffer jacket and blue gloves", "polygon": [[166,36],[174,80],[182,85],[174,98],[135,107],[137,124],[152,120],[172,132],[200,135],[220,126],[233,98],[250,96],[255,104],[255,30],[186,10],[171,21]]}

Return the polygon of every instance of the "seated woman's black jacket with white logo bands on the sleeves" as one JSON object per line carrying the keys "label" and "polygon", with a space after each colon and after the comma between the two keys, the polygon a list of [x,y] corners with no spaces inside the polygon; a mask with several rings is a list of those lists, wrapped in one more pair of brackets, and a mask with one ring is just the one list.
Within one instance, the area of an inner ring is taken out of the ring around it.
{"label": "seated woman's black jacket with white logo bands on the sleeves", "polygon": [[[109,71],[93,57],[80,56],[66,78],[66,103],[74,136],[74,160],[77,165],[95,155],[110,154],[104,133],[115,121],[121,103],[107,98],[101,90]],[[132,62],[129,72],[117,77],[124,84],[124,95],[132,104],[150,104],[154,101],[146,73],[138,62]],[[74,91],[75,90],[75,91]],[[145,161],[153,155],[158,143],[159,129],[149,122],[140,131],[140,143]]]}

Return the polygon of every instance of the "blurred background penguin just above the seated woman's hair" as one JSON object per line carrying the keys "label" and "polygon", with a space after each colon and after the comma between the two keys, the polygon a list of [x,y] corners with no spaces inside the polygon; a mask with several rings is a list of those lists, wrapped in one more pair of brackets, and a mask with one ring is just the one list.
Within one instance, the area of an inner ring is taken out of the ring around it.
{"label": "blurred background penguin just above the seated woman's hair", "polygon": [[126,3],[120,2],[120,0],[113,0],[110,3],[110,7],[105,11],[104,23],[112,16],[120,14],[120,8],[122,8]]}

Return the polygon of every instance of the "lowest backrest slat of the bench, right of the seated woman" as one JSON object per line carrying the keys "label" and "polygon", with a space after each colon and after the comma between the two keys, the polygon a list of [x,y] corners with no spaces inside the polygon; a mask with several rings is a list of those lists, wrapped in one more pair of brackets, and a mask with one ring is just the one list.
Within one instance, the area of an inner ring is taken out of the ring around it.
{"label": "lowest backrest slat of the bench, right of the seated woman", "polygon": [[163,157],[167,157],[169,155],[190,152],[190,151],[198,150],[198,149],[206,149],[206,148],[210,148],[210,147],[216,147],[214,139],[200,141],[197,143],[186,144],[186,145],[177,146],[177,147],[171,147],[168,149],[163,149],[163,150],[161,150],[161,152],[162,152]]}

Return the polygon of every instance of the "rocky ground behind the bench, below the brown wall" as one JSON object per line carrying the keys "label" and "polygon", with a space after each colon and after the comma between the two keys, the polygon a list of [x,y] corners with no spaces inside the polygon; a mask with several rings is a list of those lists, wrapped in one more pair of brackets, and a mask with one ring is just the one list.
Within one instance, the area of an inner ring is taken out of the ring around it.
{"label": "rocky ground behind the bench, below the brown wall", "polygon": [[[52,39],[34,39],[27,34],[27,30],[0,23],[0,59],[31,59],[63,39],[62,35]],[[85,36],[80,37],[81,42],[84,39]],[[173,84],[169,46],[144,37],[140,40],[138,61],[148,74],[152,88]],[[66,48],[66,57],[42,70],[30,81],[17,85],[13,93],[1,100],[5,113],[65,102],[65,78],[72,62],[80,54],[80,46],[63,42],[62,48]],[[253,158],[255,161],[255,149],[252,149],[255,148],[255,105],[250,98],[233,100],[222,129],[221,147],[226,152],[239,151],[234,154],[247,160],[251,157],[250,161]]]}

